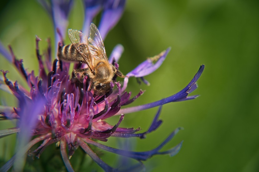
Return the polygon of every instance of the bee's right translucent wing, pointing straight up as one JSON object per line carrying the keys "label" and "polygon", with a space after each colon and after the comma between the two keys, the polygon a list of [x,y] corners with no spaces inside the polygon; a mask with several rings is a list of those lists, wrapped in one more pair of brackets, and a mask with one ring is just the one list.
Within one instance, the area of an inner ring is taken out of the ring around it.
{"label": "bee's right translucent wing, pointing straight up", "polygon": [[95,24],[93,23],[91,23],[90,25],[88,47],[91,53],[91,57],[94,58],[93,60],[95,59],[108,60],[100,32],[95,26]]}

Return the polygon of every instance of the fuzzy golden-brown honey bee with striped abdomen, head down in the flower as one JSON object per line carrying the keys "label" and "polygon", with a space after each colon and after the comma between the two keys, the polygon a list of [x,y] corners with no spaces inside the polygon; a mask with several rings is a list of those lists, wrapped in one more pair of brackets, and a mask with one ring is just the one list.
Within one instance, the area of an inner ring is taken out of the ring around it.
{"label": "fuzzy golden-brown honey bee with striped abdomen, head down in the flower", "polygon": [[[68,36],[72,44],[59,46],[58,58],[65,61],[76,61],[86,63],[86,69],[74,69],[72,72],[72,82],[81,81],[85,75],[90,79],[90,90],[95,95],[104,95],[111,89],[110,82],[115,75],[125,77],[119,70],[109,63],[103,40],[100,32],[91,23],[89,38],[78,30],[68,30]],[[78,75],[81,78],[78,79]]]}

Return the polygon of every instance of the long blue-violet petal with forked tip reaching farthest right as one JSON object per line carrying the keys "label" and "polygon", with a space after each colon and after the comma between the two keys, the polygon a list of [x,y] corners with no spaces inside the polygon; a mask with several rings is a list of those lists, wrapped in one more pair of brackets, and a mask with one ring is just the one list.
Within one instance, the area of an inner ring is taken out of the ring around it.
{"label": "long blue-violet petal with forked tip reaching farthest right", "polygon": [[153,103],[149,103],[146,105],[139,105],[139,106],[134,106],[134,107],[130,107],[130,108],[120,109],[120,111],[116,115],[128,114],[128,113],[137,112],[137,111],[144,110],[144,109],[150,109],[150,108],[153,108],[153,107],[156,107],[159,105],[164,105],[164,104],[170,103],[170,102],[190,100],[190,99],[196,98],[197,96],[191,96],[190,98],[188,98],[187,96],[188,96],[190,90],[193,91],[192,87],[197,88],[196,81],[201,76],[203,70],[204,70],[204,65],[201,65],[198,72],[193,77],[192,81],[180,92],[178,92],[174,95],[171,95],[165,99],[155,101]]}

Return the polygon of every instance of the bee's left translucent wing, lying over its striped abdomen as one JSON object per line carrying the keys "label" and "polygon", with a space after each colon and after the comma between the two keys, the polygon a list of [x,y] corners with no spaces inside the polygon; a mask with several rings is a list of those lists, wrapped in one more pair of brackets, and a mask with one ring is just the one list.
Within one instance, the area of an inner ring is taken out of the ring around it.
{"label": "bee's left translucent wing, lying over its striped abdomen", "polygon": [[78,30],[69,29],[68,37],[69,37],[71,43],[73,44],[73,46],[76,48],[76,50],[81,54],[85,63],[88,65],[88,67],[92,71],[94,66],[93,66],[91,54],[89,53],[90,52],[89,47],[87,46],[88,39],[87,39],[86,35]]}

